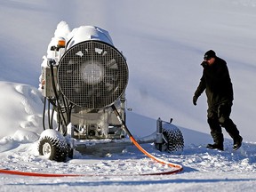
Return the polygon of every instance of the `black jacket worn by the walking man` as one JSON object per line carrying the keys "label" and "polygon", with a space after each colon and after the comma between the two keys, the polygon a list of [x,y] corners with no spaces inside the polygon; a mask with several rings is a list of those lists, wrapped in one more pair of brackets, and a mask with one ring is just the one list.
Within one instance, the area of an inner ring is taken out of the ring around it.
{"label": "black jacket worn by the walking man", "polygon": [[216,57],[212,66],[203,63],[203,76],[200,79],[195,96],[198,98],[205,90],[209,107],[219,105],[225,101],[232,102],[234,99],[233,88],[226,61]]}

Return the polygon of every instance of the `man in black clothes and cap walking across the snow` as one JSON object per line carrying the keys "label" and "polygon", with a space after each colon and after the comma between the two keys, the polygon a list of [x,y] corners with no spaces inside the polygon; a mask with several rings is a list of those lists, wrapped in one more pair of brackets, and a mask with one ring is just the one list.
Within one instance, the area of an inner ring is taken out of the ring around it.
{"label": "man in black clothes and cap walking across the snow", "polygon": [[221,127],[224,127],[234,140],[233,149],[237,150],[241,147],[243,138],[236,124],[229,118],[234,97],[227,63],[210,50],[205,52],[201,65],[204,68],[203,76],[193,97],[193,104],[196,106],[198,97],[205,90],[208,103],[207,122],[214,141],[213,144],[208,144],[207,148],[223,150],[224,138]]}

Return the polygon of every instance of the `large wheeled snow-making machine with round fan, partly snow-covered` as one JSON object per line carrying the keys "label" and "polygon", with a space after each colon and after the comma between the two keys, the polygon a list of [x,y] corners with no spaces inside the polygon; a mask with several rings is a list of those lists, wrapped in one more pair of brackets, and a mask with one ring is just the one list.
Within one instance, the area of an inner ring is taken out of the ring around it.
{"label": "large wheeled snow-making machine with round fan, partly snow-covered", "polygon": [[[108,31],[83,26],[69,39],[58,38],[44,59],[40,89],[44,96],[44,132],[39,154],[59,162],[81,154],[108,153],[132,145],[127,137],[125,89],[128,66]],[[160,118],[156,132],[137,140],[161,151],[180,151],[180,130]]]}

